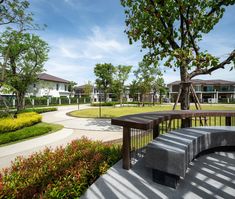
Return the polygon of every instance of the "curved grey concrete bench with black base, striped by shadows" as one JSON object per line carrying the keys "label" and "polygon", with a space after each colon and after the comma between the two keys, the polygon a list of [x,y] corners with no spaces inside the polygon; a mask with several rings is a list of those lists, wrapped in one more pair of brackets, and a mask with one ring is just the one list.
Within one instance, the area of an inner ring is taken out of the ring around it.
{"label": "curved grey concrete bench with black base, striped by shadows", "polygon": [[154,182],[176,188],[195,157],[226,147],[235,149],[235,127],[178,129],[160,135],[147,145],[145,164],[152,169]]}

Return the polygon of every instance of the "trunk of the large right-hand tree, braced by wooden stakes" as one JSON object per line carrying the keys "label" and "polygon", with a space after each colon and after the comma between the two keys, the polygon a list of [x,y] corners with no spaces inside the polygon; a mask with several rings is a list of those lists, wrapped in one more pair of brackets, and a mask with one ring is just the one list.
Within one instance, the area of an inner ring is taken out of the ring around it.
{"label": "trunk of the large right-hand tree, braced by wooden stakes", "polygon": [[181,110],[189,110],[190,108],[190,100],[189,100],[190,89],[189,88],[190,88],[191,83],[189,83],[188,72],[187,72],[186,66],[180,67],[180,76],[181,76],[181,86],[182,86],[182,92],[180,96]]}

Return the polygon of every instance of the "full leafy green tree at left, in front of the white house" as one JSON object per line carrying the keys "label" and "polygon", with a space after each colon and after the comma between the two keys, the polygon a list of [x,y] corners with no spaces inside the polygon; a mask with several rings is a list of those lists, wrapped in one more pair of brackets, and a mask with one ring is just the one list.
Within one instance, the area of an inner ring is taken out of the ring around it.
{"label": "full leafy green tree at left, in front of the white house", "polygon": [[6,60],[5,83],[14,88],[17,110],[24,108],[28,86],[38,80],[48,59],[49,47],[39,36],[17,31],[5,31],[0,39],[0,53]]}

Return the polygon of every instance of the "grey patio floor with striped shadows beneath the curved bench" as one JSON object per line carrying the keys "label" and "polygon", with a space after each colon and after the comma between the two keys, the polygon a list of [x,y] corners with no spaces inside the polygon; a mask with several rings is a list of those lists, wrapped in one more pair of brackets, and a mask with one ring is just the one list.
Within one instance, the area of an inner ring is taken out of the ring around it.
{"label": "grey patio floor with striped shadows beneath the curved bench", "polygon": [[151,169],[139,160],[130,170],[121,161],[92,184],[82,199],[199,199],[235,197],[235,153],[213,153],[194,160],[177,189],[152,181]]}

